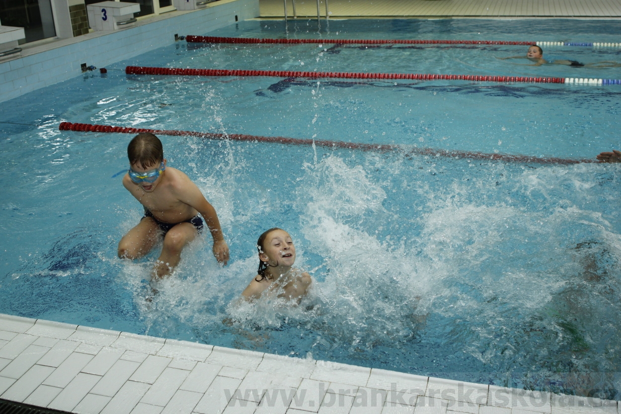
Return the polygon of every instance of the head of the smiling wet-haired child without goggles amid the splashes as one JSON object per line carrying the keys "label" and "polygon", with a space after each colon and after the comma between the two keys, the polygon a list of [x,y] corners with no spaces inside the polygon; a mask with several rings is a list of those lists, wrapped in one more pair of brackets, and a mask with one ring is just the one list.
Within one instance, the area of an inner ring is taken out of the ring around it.
{"label": "head of the smiling wet-haired child without goggles amid the splashes", "polygon": [[296,261],[296,247],[289,233],[283,229],[275,227],[263,232],[256,241],[256,249],[259,252],[257,273],[260,277],[257,282],[271,278],[268,272],[270,267],[291,267]]}

